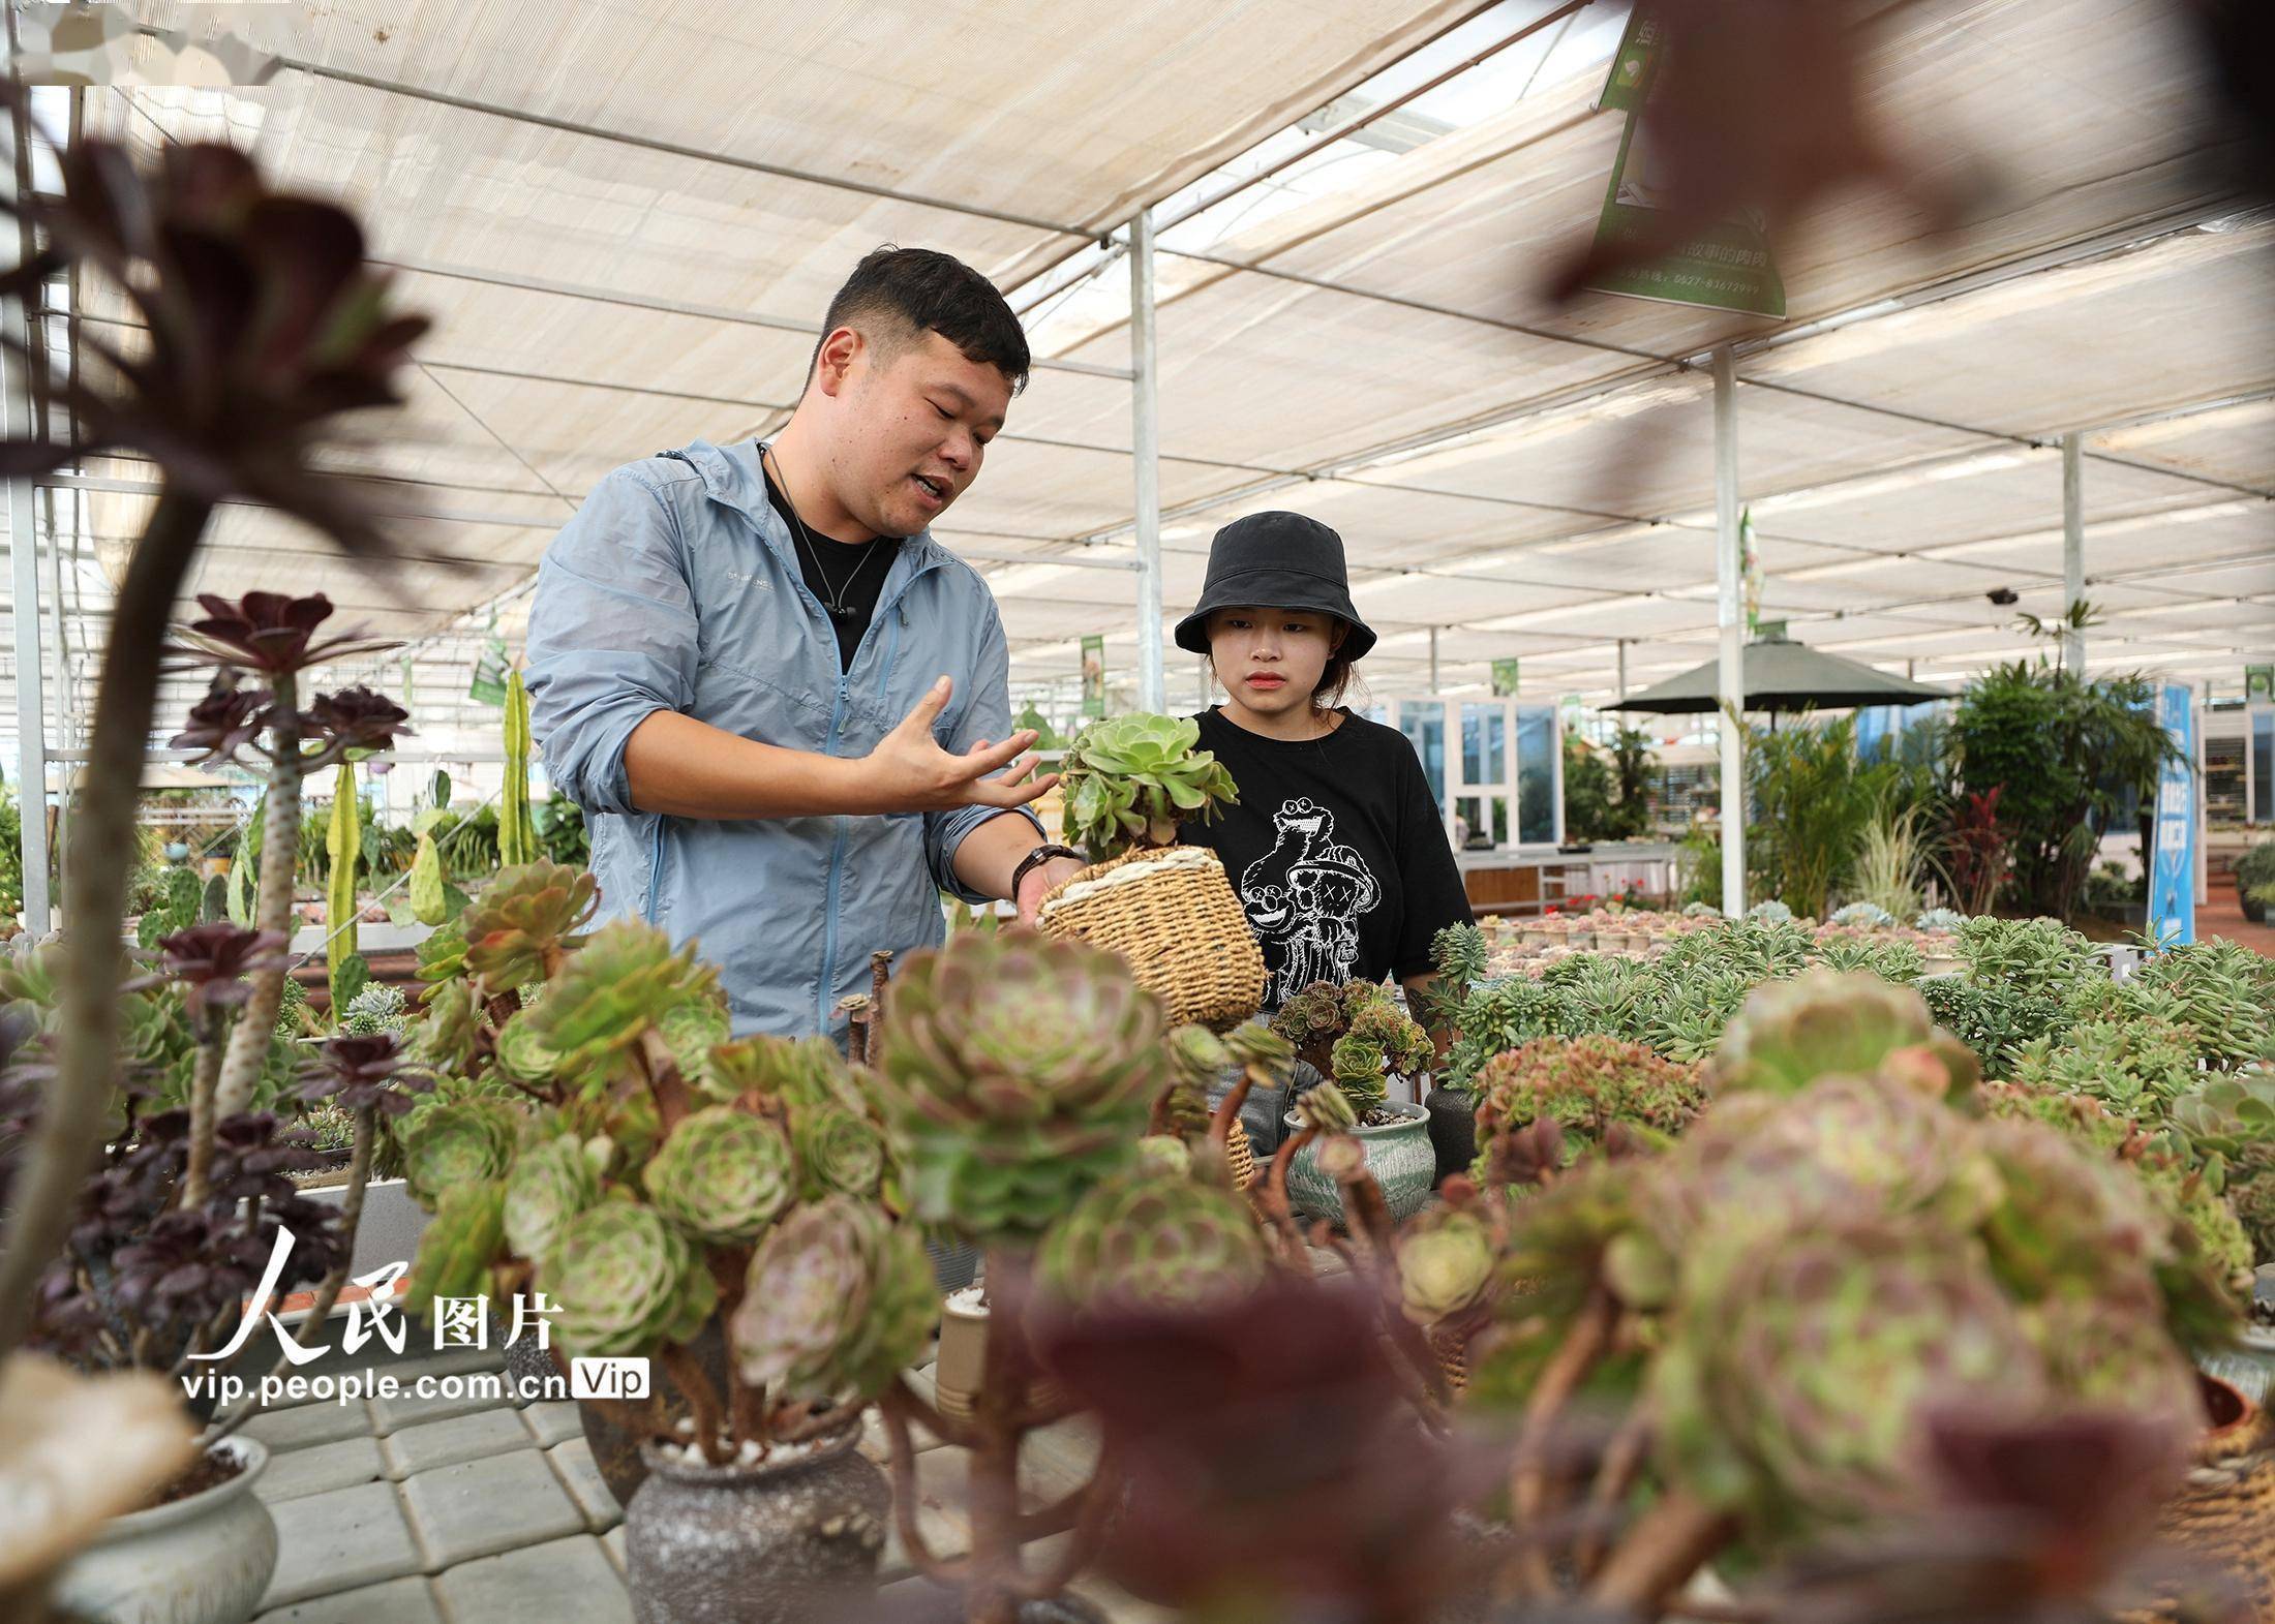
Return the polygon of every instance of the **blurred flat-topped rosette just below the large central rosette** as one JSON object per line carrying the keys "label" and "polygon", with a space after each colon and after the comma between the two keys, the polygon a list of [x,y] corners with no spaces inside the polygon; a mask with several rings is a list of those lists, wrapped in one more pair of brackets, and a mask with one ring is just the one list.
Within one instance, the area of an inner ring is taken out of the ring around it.
{"label": "blurred flat-topped rosette just below the large central rosette", "polygon": [[1042,1242],[1042,1287],[1069,1308],[1194,1308],[1256,1290],[1265,1246],[1228,1190],[1149,1167],[1108,1178]]}

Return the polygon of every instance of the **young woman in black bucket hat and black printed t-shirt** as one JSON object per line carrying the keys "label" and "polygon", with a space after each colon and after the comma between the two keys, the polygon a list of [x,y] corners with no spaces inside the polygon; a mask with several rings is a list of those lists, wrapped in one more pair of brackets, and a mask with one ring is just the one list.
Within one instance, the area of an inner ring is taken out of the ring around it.
{"label": "young woman in black bucket hat and black printed t-shirt", "polygon": [[1240,785],[1240,805],[1183,839],[1210,846],[1240,892],[1269,971],[1265,1008],[1315,980],[1420,989],[1431,937],[1470,923],[1470,898],[1406,735],[1340,703],[1374,646],[1342,537],[1279,512],[1224,525],[1176,646],[1208,655],[1226,691],[1197,721]]}

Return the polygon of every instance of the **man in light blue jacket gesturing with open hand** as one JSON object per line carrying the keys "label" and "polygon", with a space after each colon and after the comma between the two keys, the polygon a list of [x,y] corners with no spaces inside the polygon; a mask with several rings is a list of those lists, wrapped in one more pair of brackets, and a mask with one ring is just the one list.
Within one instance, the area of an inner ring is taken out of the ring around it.
{"label": "man in light blue jacket gesturing with open hand", "polygon": [[1026,384],[1019,318],[880,248],[824,328],[780,434],[610,473],[530,610],[530,721],[603,917],[694,939],[737,1033],[833,1033],[871,951],[942,939],[940,892],[1031,919],[1081,867],[1026,810],[1056,780],[1019,760],[994,596],[926,530]]}

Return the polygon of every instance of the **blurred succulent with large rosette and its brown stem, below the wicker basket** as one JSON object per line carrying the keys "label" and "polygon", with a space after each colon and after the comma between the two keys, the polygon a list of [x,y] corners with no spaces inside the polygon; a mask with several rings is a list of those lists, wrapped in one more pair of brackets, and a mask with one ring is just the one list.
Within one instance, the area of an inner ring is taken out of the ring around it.
{"label": "blurred succulent with large rosette and its brown stem, below the wicker basket", "polygon": [[[965,1592],[974,1624],[1069,1617],[1060,1599],[1092,1560],[1112,1503],[1099,1472],[1058,1503],[1021,1513],[1019,1440],[1069,1415],[1037,1383],[1031,1335],[1037,1262],[1049,1290],[1081,1299],[1115,1278],[1185,1290],[1213,1269],[1238,1271],[1242,1215],[1215,1183],[1163,1199],[1138,1183],[1138,1144],[1169,1080],[1163,1014],[1112,953],[1026,933],[958,933],[910,958],[892,983],[880,1096],[912,1215],[985,1246],[985,1344],[969,1412],[928,1403],[905,1381],[883,1394],[892,1435],[896,1517],[919,1572]],[[1122,1251],[1144,1224],[1160,1269]],[[1167,1285],[1165,1285],[1167,1283]],[[953,1319],[946,1328],[953,1328]],[[946,1365],[946,1347],[942,1365]],[[971,1447],[971,1556],[940,1558],[917,1526],[912,1426]],[[1021,1547],[1074,1538],[1042,1565]],[[1060,1608],[1046,1613],[1042,1608]]]}

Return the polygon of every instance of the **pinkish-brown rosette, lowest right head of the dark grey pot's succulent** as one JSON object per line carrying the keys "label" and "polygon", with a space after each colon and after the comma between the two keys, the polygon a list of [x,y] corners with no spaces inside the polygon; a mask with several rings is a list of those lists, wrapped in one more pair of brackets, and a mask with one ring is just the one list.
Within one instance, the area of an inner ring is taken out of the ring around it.
{"label": "pinkish-brown rosette, lowest right head of the dark grey pot's succulent", "polygon": [[937,1315],[915,1231],[864,1201],[828,1196],[776,1224],[751,1256],[728,1335],[746,1383],[858,1403],[919,1358]]}

